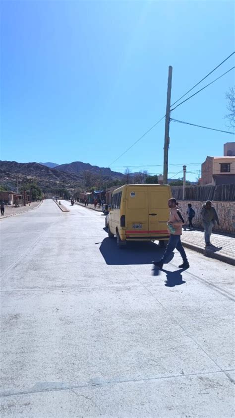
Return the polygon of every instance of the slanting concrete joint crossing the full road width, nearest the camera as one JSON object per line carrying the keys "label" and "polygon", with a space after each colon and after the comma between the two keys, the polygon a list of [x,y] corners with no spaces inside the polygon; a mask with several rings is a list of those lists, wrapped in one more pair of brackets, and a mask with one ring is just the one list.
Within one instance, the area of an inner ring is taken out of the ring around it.
{"label": "slanting concrete joint crossing the full road width, nearest the camera", "polygon": [[[116,384],[122,384],[122,383],[139,383],[139,382],[146,382],[151,380],[163,380],[163,379],[173,379],[173,378],[185,378],[185,377],[191,377],[191,376],[201,376],[201,375],[210,375],[210,374],[216,374],[216,373],[225,373],[235,371],[234,369],[229,370],[215,370],[215,371],[204,371],[200,373],[184,373],[184,374],[173,374],[168,376],[155,376],[155,377],[146,377],[142,379],[120,379],[120,380],[108,380],[106,382],[100,382],[100,383],[91,383],[91,384],[83,384],[83,385],[76,385],[76,386],[67,386],[67,387],[55,387],[51,389],[35,389],[35,390],[29,390],[29,391],[19,391],[19,392],[0,392],[0,398],[5,398],[9,396],[18,396],[18,395],[29,395],[33,393],[43,393],[43,392],[55,392],[55,391],[62,391],[62,390],[73,390],[73,389],[83,389],[83,388],[92,388],[92,387],[100,387],[100,386],[106,386],[106,385],[116,385]],[[231,381],[231,379],[229,379]],[[232,379],[233,380],[233,379]],[[55,382],[56,383],[56,382]],[[231,382],[233,383],[233,382]]]}

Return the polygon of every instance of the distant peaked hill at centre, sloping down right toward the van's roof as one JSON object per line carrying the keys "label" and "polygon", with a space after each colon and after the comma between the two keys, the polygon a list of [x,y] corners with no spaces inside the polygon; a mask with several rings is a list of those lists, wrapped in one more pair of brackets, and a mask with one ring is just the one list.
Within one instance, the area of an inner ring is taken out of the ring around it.
{"label": "distant peaked hill at centre, sloping down right toward the van's roof", "polygon": [[76,174],[82,174],[85,171],[90,171],[92,174],[98,174],[115,179],[121,179],[124,177],[124,174],[118,173],[117,171],[112,171],[110,168],[98,167],[97,165],[91,165],[81,161],[74,161],[69,164],[61,164],[58,165],[56,169],[66,173]]}

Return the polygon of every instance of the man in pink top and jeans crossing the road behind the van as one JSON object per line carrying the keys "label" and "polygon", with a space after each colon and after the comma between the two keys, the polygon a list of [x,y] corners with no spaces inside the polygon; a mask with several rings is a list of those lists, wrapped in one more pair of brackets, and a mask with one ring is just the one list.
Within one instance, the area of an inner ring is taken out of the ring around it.
{"label": "man in pink top and jeans crossing the road behind the van", "polygon": [[176,250],[180,253],[183,263],[178,266],[181,269],[188,269],[189,263],[187,260],[187,256],[185,254],[184,248],[180,241],[180,235],[182,234],[182,225],[184,224],[184,219],[182,217],[182,213],[180,209],[177,207],[176,199],[171,198],[168,201],[168,206],[171,209],[169,221],[167,222],[168,231],[170,233],[170,239],[168,241],[168,245],[166,248],[165,253],[163,254],[160,261],[153,261],[154,266],[162,269],[163,265],[169,263],[170,256],[172,255],[173,251]]}

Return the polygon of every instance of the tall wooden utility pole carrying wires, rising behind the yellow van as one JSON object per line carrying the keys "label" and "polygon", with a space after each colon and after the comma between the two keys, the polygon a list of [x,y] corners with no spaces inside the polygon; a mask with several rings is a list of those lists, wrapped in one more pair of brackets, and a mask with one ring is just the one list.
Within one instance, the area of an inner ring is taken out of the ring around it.
{"label": "tall wooden utility pole carrying wires, rising behind the yellow van", "polygon": [[169,66],[168,84],[167,84],[167,109],[166,109],[166,119],[165,119],[163,184],[167,184],[167,178],[168,178],[168,148],[169,148],[169,130],[170,130],[170,115],[171,115],[171,109],[170,109],[171,92],[172,92],[172,66]]}

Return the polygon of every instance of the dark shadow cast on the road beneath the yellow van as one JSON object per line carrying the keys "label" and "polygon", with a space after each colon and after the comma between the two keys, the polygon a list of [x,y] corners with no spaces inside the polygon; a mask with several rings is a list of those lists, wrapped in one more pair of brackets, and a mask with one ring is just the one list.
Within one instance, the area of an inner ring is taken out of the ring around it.
{"label": "dark shadow cast on the road beneath the yellow van", "polygon": [[116,238],[105,238],[100,246],[108,265],[151,264],[153,260],[160,260],[164,251],[165,248],[152,241],[128,242],[125,248],[119,249]]}

